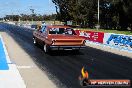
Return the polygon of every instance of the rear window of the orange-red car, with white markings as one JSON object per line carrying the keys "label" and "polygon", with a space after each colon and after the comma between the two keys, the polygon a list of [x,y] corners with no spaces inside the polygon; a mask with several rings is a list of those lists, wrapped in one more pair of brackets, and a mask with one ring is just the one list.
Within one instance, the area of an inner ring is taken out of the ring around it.
{"label": "rear window of the orange-red car, with white markings", "polygon": [[49,34],[68,34],[76,35],[75,31],[71,28],[51,28]]}

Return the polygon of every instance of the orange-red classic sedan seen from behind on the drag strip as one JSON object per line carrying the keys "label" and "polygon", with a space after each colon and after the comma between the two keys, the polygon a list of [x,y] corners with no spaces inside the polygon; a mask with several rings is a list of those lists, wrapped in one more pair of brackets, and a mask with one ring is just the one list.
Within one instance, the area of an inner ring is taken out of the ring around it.
{"label": "orange-red classic sedan seen from behind on the drag strip", "polygon": [[45,52],[49,50],[80,50],[84,49],[85,39],[76,35],[69,26],[43,26],[33,32],[33,43],[43,45]]}

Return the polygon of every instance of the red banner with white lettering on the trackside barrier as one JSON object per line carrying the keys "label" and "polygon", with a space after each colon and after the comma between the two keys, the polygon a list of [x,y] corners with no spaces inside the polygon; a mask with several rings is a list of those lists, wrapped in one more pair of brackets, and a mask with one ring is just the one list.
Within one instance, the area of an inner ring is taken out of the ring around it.
{"label": "red banner with white lettering on the trackside barrier", "polygon": [[86,40],[103,43],[104,33],[103,32],[93,32],[86,30],[75,30],[78,36],[85,38]]}

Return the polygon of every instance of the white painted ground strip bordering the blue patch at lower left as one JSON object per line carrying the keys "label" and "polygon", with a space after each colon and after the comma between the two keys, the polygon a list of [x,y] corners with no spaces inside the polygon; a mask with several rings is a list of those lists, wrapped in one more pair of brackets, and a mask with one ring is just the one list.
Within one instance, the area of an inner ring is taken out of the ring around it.
{"label": "white painted ground strip bordering the blue patch at lower left", "polygon": [[12,63],[5,47],[2,36],[0,35],[3,49],[6,55],[8,70],[0,70],[0,88],[26,88],[24,80],[22,79],[16,64]]}

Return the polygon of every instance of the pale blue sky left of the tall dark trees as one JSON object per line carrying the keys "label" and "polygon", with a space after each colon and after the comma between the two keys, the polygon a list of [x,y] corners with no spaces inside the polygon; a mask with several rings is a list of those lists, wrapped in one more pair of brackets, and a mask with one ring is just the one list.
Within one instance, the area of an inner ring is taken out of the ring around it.
{"label": "pale blue sky left of the tall dark trees", "polygon": [[37,14],[56,13],[52,0],[0,0],[0,18],[5,15],[31,14],[31,10]]}

